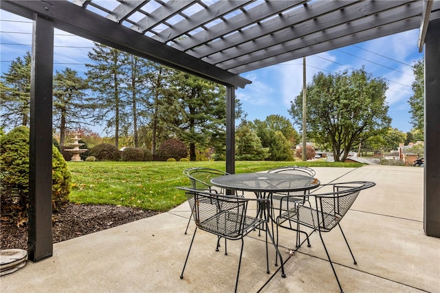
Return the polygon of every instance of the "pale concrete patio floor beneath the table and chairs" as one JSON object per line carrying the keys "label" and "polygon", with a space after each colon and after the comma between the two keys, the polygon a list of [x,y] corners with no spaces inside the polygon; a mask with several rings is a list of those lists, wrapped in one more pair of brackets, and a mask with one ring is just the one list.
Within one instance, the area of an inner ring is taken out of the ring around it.
{"label": "pale concrete patio floor beneath the table and chairs", "polygon": [[[423,168],[369,165],[317,167],[321,183],[370,180],[341,222],[358,265],[338,229],[324,233],[345,292],[440,292],[440,239],[423,232]],[[252,195],[250,195],[252,196]],[[228,255],[214,251],[217,237],[197,231],[184,279],[180,273],[194,223],[187,202],[151,218],[54,244],[54,255],[0,278],[8,292],[232,292],[240,242]],[[239,292],[338,292],[318,233],[311,247],[294,247],[293,231],[281,229],[280,250],[287,277],[265,269],[264,237],[245,239]],[[223,243],[223,242],[222,242]]]}

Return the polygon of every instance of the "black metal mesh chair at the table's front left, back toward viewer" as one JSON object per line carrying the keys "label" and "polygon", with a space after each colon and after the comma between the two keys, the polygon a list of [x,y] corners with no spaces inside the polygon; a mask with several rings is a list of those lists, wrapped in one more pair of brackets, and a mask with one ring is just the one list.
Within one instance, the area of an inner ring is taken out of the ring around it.
{"label": "black metal mesh chair at the table's front left, back toward viewer", "polygon": [[[267,236],[274,245],[277,256],[281,259],[281,276],[285,277],[283,259],[279,252],[274,237],[267,228],[267,212],[269,212],[269,199],[265,198],[241,198],[237,196],[229,196],[223,194],[215,194],[210,192],[200,191],[199,189],[188,189],[185,187],[177,187],[186,191],[186,197],[191,206],[192,217],[195,220],[196,228],[192,235],[188,255],[184,263],[184,268],[181,271],[180,279],[184,278],[184,270],[192,243],[194,242],[197,229],[201,229],[208,233],[217,235],[217,237],[224,237],[230,240],[241,240],[241,250],[239,258],[239,267],[236,273],[235,292],[239,283],[239,274],[241,268],[241,257],[243,255],[244,237],[254,229],[264,226],[265,230],[265,244],[266,244],[266,265],[267,273],[269,270],[269,256],[267,249]],[[262,209],[263,217],[253,217],[247,214],[250,202],[255,202],[259,209]],[[225,250],[226,250],[225,246]]]}

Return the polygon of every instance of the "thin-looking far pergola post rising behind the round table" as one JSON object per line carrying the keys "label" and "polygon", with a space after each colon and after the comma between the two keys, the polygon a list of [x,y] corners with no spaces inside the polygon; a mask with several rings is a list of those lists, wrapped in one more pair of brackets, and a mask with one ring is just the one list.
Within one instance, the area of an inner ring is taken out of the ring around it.
{"label": "thin-looking far pergola post rising behind the round table", "polygon": [[235,173],[235,87],[226,86],[226,172]]}

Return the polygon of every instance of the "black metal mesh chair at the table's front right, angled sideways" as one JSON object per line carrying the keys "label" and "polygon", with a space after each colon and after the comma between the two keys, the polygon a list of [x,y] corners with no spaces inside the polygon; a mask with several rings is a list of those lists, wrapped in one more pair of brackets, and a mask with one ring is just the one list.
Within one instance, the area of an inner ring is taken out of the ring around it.
{"label": "black metal mesh chair at the table's front right, angled sideways", "polygon": [[[329,185],[322,185],[325,187],[332,187],[333,191],[325,194],[309,194],[310,197],[315,198],[315,202],[311,207],[304,204],[296,204],[293,209],[288,211],[278,211],[276,216],[276,232],[278,235],[278,227],[288,228],[294,231],[298,231],[299,226],[306,226],[312,228],[314,231],[318,231],[322,246],[324,246],[325,253],[329,259],[333,274],[335,274],[336,281],[342,292],[342,286],[336,274],[336,270],[331,262],[329,252],[325,246],[324,239],[322,238],[323,232],[330,232],[334,227],[339,226],[345,243],[349,248],[353,263],[357,264],[349,242],[342,231],[340,221],[344,218],[347,211],[349,211],[351,205],[360,194],[360,191],[366,188],[375,186],[375,183],[368,181],[353,181],[347,183],[333,183]],[[288,196],[281,198],[281,201],[288,200]],[[313,201],[313,200],[312,200]],[[297,228],[292,228],[292,223],[298,224]]]}

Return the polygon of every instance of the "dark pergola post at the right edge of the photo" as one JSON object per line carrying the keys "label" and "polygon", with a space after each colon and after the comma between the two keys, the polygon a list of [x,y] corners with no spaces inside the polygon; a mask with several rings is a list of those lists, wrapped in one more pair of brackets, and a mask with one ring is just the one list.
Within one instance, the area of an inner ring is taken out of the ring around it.
{"label": "dark pergola post at the right edge of the photo", "polygon": [[440,19],[430,21],[425,38],[425,174],[423,228],[440,237]]}

